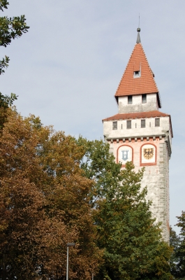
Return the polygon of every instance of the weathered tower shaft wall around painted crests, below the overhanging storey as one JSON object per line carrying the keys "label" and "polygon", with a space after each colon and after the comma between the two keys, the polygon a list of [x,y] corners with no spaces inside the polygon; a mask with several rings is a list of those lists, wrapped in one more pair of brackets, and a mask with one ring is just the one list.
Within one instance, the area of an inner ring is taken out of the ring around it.
{"label": "weathered tower shaft wall around painted crests, below the overhanging storey", "polygon": [[[109,142],[110,143],[110,142]],[[147,186],[148,195],[147,200],[152,201],[151,213],[156,218],[156,223],[162,222],[161,228],[163,230],[163,239],[169,241],[169,158],[165,138],[163,139],[149,139],[147,141],[131,141],[123,142],[119,140],[110,143],[110,152],[114,154],[117,160],[117,150],[120,146],[128,145],[133,148],[133,164],[135,165],[135,172],[141,169],[141,147],[143,144],[153,144],[156,147],[156,163],[155,165],[145,166],[145,173],[142,179],[142,188]],[[123,167],[124,168],[124,167]]]}

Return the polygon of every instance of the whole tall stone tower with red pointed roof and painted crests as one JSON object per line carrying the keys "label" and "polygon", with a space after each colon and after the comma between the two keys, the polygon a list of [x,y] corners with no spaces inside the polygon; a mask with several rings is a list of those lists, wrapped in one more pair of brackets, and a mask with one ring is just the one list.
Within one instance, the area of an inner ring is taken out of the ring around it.
{"label": "whole tall stone tower with red pointed roof and painted crests", "polygon": [[135,171],[145,167],[142,186],[163,239],[169,241],[169,160],[172,153],[170,115],[158,111],[161,98],[154,73],[140,42],[140,28],[133,52],[114,95],[119,113],[103,120],[105,141],[117,162],[132,161]]}

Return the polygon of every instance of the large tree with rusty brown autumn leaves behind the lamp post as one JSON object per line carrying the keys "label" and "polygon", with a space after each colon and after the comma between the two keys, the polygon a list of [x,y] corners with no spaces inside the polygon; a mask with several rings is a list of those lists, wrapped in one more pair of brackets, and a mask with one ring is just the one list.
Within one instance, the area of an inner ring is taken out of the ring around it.
{"label": "large tree with rusty brown autumn leaves behind the lamp post", "polygon": [[96,246],[82,148],[73,137],[8,109],[0,139],[0,279],[91,279]]}

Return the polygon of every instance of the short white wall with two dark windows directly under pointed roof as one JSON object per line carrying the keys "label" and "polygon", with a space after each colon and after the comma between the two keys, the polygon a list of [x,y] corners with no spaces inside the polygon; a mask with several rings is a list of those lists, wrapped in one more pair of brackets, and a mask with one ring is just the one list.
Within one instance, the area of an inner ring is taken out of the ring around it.
{"label": "short white wall with two dark windows directly under pointed roof", "polygon": [[119,113],[135,113],[158,110],[156,93],[147,94],[147,103],[142,103],[142,94],[133,95],[133,104],[128,104],[128,96],[118,98]]}

